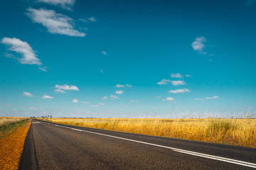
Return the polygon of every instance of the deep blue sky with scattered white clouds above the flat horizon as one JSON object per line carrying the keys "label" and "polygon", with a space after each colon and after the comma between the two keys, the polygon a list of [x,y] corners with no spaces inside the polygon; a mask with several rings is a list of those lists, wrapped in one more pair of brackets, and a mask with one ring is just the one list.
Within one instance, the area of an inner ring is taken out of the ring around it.
{"label": "deep blue sky with scattered white clouds above the flat horizon", "polygon": [[10,0],[0,19],[0,116],[255,112],[256,1]]}

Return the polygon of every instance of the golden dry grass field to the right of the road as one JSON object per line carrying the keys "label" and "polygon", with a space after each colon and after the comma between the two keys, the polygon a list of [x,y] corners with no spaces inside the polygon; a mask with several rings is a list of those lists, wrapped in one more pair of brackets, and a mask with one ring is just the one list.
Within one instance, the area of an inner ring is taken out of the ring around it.
{"label": "golden dry grass field to the right of the road", "polygon": [[256,147],[256,119],[43,118],[65,125]]}

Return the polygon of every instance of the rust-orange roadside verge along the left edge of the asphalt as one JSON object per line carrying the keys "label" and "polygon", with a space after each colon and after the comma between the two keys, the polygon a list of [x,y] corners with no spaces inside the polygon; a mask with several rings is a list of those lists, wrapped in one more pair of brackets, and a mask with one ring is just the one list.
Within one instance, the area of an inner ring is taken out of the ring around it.
{"label": "rust-orange roadside verge along the left edge of the asphalt", "polygon": [[26,120],[21,125],[12,125],[15,127],[8,129],[12,131],[11,135],[0,138],[0,169],[18,169],[18,163],[30,124],[31,121]]}

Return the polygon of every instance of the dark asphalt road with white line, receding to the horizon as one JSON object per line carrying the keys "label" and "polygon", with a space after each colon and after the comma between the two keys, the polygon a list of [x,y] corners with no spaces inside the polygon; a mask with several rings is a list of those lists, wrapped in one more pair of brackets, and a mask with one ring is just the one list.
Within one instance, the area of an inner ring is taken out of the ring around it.
{"label": "dark asphalt road with white line, receding to the horizon", "polygon": [[19,169],[256,169],[256,149],[33,120]]}

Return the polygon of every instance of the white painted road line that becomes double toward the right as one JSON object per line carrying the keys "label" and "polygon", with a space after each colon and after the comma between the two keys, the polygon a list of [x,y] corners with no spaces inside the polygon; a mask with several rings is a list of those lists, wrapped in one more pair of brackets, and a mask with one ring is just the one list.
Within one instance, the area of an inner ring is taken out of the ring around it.
{"label": "white painted road line that becomes double toward the right", "polygon": [[[45,124],[55,125],[55,124],[51,124],[51,123],[45,123]],[[242,162],[242,161],[239,161],[239,160],[228,159],[228,158],[225,158],[225,157],[217,157],[217,156],[210,155],[210,154],[201,154],[201,153],[198,153],[198,152],[191,152],[191,151],[188,151],[188,150],[178,149],[178,148],[174,148],[174,147],[166,147],[166,146],[163,146],[163,145],[156,145],[156,144],[152,144],[152,143],[148,143],[148,142],[142,142],[142,141],[139,141],[139,140],[130,140],[130,139],[127,139],[127,138],[124,138],[124,137],[116,137],[116,136],[112,136],[112,135],[105,135],[105,134],[98,133],[98,132],[90,132],[90,131],[87,131],[87,130],[79,130],[79,129],[75,129],[75,128],[65,127],[65,126],[62,126],[62,125],[55,125],[55,126],[59,126],[59,127],[62,127],[62,128],[68,128],[68,129],[71,129],[71,130],[78,130],[80,132],[89,132],[89,133],[96,134],[96,135],[113,137],[113,138],[117,138],[119,140],[128,140],[128,141],[131,141],[131,142],[142,143],[142,144],[151,145],[151,146],[155,146],[155,147],[163,147],[163,148],[166,148],[166,149],[171,149],[172,151],[175,151],[175,152],[181,152],[183,154],[191,154],[191,155],[194,155],[194,156],[197,156],[197,157],[205,157],[205,158],[208,158],[208,159],[214,159],[214,160],[218,160],[218,161],[222,161],[222,162],[228,162],[228,163],[231,163],[231,164],[239,164],[239,165],[242,165],[242,166],[247,166],[247,167],[251,167],[251,168],[256,169],[256,164],[253,164],[253,163],[250,163],[250,162]]]}

